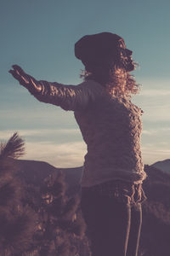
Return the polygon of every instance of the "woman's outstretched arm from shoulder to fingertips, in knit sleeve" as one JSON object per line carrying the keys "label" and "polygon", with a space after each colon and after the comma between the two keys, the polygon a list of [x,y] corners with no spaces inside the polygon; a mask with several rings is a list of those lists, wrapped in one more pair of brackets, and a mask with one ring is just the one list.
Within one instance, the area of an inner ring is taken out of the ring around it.
{"label": "woman's outstretched arm from shoulder to fingertips, in knit sleeve", "polygon": [[78,85],[37,81],[19,66],[14,65],[13,68],[14,70],[10,70],[9,73],[26,87],[37,100],[60,106],[65,110],[86,108],[89,102],[95,101],[104,92],[104,88],[94,81],[87,81]]}

